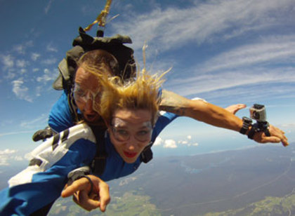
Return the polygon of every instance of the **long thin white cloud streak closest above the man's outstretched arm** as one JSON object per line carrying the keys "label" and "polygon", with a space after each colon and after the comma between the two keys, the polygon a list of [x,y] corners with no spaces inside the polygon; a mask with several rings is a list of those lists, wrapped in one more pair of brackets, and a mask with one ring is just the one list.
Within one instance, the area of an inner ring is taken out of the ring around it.
{"label": "long thin white cloud streak closest above the man's outstretched arm", "polygon": [[[293,67],[273,69],[268,67],[249,67],[245,69],[228,70],[227,72],[222,73],[214,72],[197,75],[196,69],[195,75],[192,74],[188,78],[170,79],[166,82],[166,88],[177,89],[177,93],[180,95],[194,95],[246,85],[289,83],[295,81],[294,70],[295,68]],[[247,90],[249,95],[251,95],[251,93],[257,95],[256,92],[251,92],[251,88],[249,87],[245,88],[245,90]],[[268,93],[270,95],[273,94],[270,90],[266,89],[261,90],[260,92]],[[216,94],[216,92],[214,92],[214,94]]]}

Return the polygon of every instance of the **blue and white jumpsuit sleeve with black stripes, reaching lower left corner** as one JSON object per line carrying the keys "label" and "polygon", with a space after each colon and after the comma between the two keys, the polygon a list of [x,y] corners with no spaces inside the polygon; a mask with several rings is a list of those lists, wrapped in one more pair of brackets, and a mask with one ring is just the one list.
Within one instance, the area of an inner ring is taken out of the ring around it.
{"label": "blue and white jumpsuit sleeve with black stripes, reaching lower left corner", "polygon": [[60,196],[67,174],[92,162],[96,140],[83,125],[73,127],[78,131],[70,128],[69,132],[58,133],[58,139],[55,135],[30,153],[29,166],[0,191],[0,215],[30,215],[52,203]]}

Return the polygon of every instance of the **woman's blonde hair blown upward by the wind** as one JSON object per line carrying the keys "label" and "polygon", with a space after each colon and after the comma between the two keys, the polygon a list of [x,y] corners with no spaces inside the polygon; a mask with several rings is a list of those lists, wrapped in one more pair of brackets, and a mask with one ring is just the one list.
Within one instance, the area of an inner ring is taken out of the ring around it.
{"label": "woman's blonde hair blown upward by the wind", "polygon": [[[143,58],[145,62],[145,55]],[[145,109],[152,113],[154,126],[160,102],[159,88],[164,83],[163,77],[167,72],[169,70],[162,74],[150,74],[144,67],[141,72],[137,72],[136,79],[129,81],[122,81],[118,76],[100,76],[103,93],[100,107],[97,104],[95,106],[96,111],[110,123],[117,109]]]}

